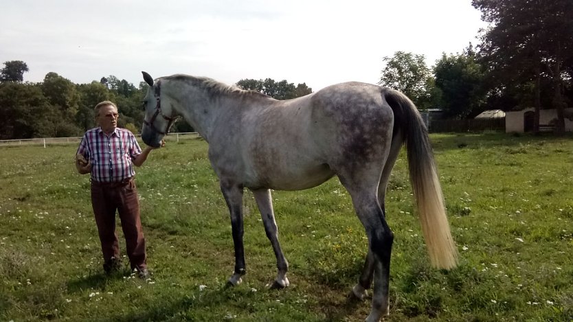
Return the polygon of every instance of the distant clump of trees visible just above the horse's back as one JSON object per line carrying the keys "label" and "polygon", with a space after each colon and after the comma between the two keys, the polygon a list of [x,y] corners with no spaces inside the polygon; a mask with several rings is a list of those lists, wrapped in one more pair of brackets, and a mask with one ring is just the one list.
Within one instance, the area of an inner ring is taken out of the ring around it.
{"label": "distant clump of trees visible just above the horse's back", "polygon": [[265,80],[239,80],[236,83],[236,86],[241,89],[258,91],[267,96],[273,97],[276,100],[289,100],[291,98],[308,95],[313,92],[313,89],[306,86],[306,83],[298,84],[297,87],[295,87],[294,83],[289,83],[287,80],[275,82],[275,80],[271,78],[267,78]]}

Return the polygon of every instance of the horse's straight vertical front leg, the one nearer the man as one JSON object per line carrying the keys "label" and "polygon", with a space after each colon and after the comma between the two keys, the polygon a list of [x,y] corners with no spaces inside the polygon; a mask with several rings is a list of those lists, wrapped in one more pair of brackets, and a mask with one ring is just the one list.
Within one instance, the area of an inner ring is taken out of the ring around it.
{"label": "horse's straight vertical front leg, the one nearer the man", "polygon": [[243,281],[242,277],[247,273],[245,269],[245,248],[243,246],[243,185],[221,180],[221,192],[223,192],[231,214],[231,227],[235,246],[235,271],[232,277],[229,278],[229,284],[236,286]]}

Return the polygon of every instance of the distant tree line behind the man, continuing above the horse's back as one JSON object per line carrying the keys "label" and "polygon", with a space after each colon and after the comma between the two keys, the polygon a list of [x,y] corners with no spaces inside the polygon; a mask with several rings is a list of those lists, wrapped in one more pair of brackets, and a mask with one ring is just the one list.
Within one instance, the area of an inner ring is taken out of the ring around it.
{"label": "distant tree line behind the man, continuing above the horse's back", "polygon": [[[4,63],[0,71],[0,139],[29,139],[32,137],[76,137],[95,126],[93,107],[111,100],[117,104],[120,118],[117,125],[139,133],[144,111],[142,101],[148,85],[135,87],[126,80],[105,76],[89,84],[74,84],[57,73],[47,73],[43,82],[23,82],[27,64],[21,60]],[[279,100],[308,93],[306,84],[282,80],[244,79],[237,82],[243,89],[252,89]],[[192,132],[186,122],[177,122],[173,132]]]}

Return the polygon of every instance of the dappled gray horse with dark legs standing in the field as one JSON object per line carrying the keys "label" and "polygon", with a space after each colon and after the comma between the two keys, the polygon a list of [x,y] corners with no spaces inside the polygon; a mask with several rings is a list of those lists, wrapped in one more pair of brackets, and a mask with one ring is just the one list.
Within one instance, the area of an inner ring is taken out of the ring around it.
{"label": "dappled gray horse with dark legs standing in the field", "polygon": [[374,279],[366,321],[389,313],[388,283],[394,235],[385,220],[390,172],[405,143],[410,181],[429,258],[438,268],[457,264],[442,189],[427,129],[405,95],[346,82],[293,100],[274,100],[210,78],[173,75],[153,80],[145,97],[143,141],[161,144],[182,116],[209,143],[209,159],[231,214],[235,269],[245,275],[243,190],[251,189],[277,260],[275,288],[289,286],[289,264],[278,241],[271,190],[315,187],[337,175],[368,235],[368,255],[352,294],[363,299]]}

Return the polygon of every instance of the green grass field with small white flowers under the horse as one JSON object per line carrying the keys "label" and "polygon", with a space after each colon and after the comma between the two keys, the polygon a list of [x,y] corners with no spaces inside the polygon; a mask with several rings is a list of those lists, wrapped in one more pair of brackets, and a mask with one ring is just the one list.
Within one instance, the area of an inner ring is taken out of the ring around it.
{"label": "green grass field with small white flowers under the horse", "polygon": [[[460,266],[430,268],[401,155],[386,201],[387,321],[573,321],[572,137],[431,140]],[[336,178],[273,192],[291,281],[278,291],[268,289],[276,262],[245,192],[247,275],[226,288],[231,225],[207,144],[168,142],[137,169],[153,276],[126,266],[106,277],[76,148],[0,148],[0,321],[362,321],[370,311],[346,297],[367,241]]]}

